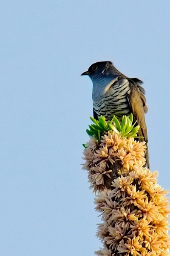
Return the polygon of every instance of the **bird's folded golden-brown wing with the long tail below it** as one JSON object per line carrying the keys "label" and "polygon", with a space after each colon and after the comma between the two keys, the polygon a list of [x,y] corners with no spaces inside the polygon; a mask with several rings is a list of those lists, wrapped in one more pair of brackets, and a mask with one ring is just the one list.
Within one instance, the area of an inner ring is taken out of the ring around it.
{"label": "bird's folded golden-brown wing with the long tail below it", "polygon": [[[144,114],[147,113],[147,105],[146,98],[139,86],[136,83],[132,83],[129,81],[130,86],[130,94],[128,96],[130,107],[132,109],[133,117],[135,120],[138,120],[138,124],[140,125],[140,129],[138,131],[140,141],[145,141],[147,146],[147,126],[145,122]],[[145,158],[147,162],[147,166],[149,168],[149,157],[148,157],[148,149],[145,151]]]}

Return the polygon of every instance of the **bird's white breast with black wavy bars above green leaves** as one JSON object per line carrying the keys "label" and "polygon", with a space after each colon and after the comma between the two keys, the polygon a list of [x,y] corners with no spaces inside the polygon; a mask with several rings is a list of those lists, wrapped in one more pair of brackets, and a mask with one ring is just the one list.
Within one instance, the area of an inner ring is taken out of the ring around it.
{"label": "bird's white breast with black wavy bars above green leaves", "polygon": [[99,102],[94,102],[94,111],[97,116],[105,116],[111,120],[114,115],[118,118],[131,113],[128,95],[130,93],[129,81],[121,79],[113,83]]}

